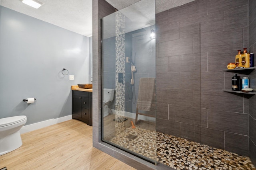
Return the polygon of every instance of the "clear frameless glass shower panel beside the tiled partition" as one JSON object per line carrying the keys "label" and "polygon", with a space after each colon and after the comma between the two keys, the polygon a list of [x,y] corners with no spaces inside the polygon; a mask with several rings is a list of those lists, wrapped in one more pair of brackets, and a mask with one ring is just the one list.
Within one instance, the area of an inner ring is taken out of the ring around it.
{"label": "clear frameless glass shower panel beside the tiled partition", "polygon": [[101,22],[102,141],[156,164],[155,1]]}

